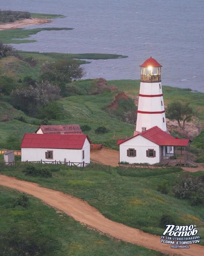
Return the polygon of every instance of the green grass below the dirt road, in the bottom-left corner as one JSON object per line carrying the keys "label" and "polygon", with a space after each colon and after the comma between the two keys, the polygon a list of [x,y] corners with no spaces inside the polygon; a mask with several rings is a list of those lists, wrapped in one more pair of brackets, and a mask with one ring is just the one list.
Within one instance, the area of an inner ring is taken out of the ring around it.
{"label": "green grass below the dirt road, in the bottom-left corner", "polygon": [[[22,206],[13,207],[20,195],[24,194],[0,187],[1,255],[22,255],[21,251],[15,254],[15,250],[20,248],[21,244],[24,244],[25,247],[26,242],[28,245],[30,242],[30,248],[35,245],[35,248],[46,249],[47,252],[39,254],[41,256],[164,255],[100,235],[98,232],[87,229],[66,214],[44,205],[40,200],[31,196],[28,196],[27,208]],[[17,245],[14,242],[17,242]],[[5,251],[6,245],[8,248]],[[12,245],[14,250],[9,250]]]}

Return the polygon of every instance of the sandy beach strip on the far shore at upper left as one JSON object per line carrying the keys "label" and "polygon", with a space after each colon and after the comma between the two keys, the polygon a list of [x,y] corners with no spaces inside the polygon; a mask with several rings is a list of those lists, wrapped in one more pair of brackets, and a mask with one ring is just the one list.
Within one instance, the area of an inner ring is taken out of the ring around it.
{"label": "sandy beach strip on the far shore at upper left", "polygon": [[7,29],[21,29],[31,25],[51,23],[51,19],[46,18],[25,18],[22,20],[16,20],[15,22],[0,24],[0,31]]}

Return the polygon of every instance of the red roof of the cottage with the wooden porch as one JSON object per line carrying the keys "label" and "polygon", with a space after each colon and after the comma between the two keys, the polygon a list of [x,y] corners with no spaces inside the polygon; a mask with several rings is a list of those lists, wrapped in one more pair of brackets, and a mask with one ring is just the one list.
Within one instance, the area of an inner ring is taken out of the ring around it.
{"label": "red roof of the cottage with the wooden porch", "polygon": [[[157,126],[154,126],[146,131],[142,131],[142,133],[139,133],[136,136],[139,135],[160,146],[187,146],[190,141],[190,139],[176,139],[172,135],[166,133],[165,131],[162,131],[162,129]],[[132,139],[133,137],[131,137],[130,139]],[[126,141],[128,140],[129,139],[127,139]],[[122,143],[124,143],[124,141],[118,141],[117,145],[120,145]]]}

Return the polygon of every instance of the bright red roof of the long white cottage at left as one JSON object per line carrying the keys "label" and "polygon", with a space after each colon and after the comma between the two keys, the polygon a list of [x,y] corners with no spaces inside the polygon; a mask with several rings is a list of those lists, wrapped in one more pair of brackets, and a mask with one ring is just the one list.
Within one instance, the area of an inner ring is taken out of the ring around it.
{"label": "bright red roof of the long white cottage at left", "polygon": [[84,134],[26,133],[20,147],[82,149],[86,138],[90,142],[88,136]]}

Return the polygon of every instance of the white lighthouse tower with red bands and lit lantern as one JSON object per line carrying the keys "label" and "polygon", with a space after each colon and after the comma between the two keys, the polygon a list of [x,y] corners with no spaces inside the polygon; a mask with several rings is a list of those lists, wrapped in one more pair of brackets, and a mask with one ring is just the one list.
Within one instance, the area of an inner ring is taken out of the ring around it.
{"label": "white lighthouse tower with red bands and lit lantern", "polygon": [[161,85],[161,67],[150,57],[140,66],[140,94],[134,135],[158,126],[166,131],[166,117]]}

